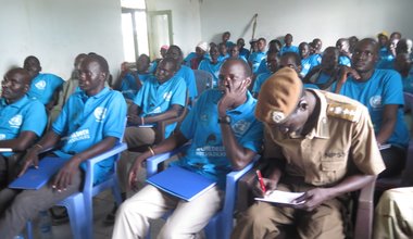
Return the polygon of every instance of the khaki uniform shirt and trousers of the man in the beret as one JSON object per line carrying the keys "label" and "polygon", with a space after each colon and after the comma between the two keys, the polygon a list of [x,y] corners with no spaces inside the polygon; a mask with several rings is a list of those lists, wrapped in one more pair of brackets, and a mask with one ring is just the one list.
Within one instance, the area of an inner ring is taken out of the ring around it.
{"label": "khaki uniform shirt and trousers of the man in the beret", "polygon": [[[331,187],[350,167],[367,175],[384,171],[367,109],[342,96],[309,91],[316,96],[320,113],[308,135],[284,135],[265,125],[264,159],[286,161],[278,189]],[[342,207],[339,199],[326,201],[313,212],[258,202],[240,215],[233,238],[275,238],[279,225],[291,224],[301,238],[343,238]]]}

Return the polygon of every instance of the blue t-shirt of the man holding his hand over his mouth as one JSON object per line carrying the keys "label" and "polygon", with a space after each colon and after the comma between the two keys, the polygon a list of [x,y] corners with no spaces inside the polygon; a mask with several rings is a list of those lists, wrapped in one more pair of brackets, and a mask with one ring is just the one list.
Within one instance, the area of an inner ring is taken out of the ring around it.
{"label": "blue t-shirt of the man holding his hand over his mouth", "polygon": [[[262,144],[263,126],[254,116],[256,100],[251,93],[247,93],[246,103],[227,111],[227,115],[231,117],[230,126],[238,143],[258,152]],[[217,103],[222,96],[222,91],[217,89],[204,91],[185,117],[180,131],[192,141],[185,156],[174,164],[216,180],[221,188],[225,188],[225,178],[231,171],[231,165],[226,156],[221,126],[217,123]]]}

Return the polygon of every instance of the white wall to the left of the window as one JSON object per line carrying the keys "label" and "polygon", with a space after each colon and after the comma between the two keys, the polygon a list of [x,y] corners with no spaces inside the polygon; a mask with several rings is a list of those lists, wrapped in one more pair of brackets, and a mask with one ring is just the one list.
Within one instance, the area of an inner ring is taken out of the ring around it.
{"label": "white wall to the left of the window", "polygon": [[103,55],[116,75],[123,61],[120,0],[0,0],[0,75],[39,58],[43,72],[70,77],[80,52]]}

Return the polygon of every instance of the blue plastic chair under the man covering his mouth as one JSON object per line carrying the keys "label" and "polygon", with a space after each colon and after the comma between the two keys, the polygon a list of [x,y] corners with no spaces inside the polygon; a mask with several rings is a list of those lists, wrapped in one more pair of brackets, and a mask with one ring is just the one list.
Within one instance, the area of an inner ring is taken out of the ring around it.
{"label": "blue plastic chair under the man covering his mouth", "polygon": [[[149,158],[147,160],[147,177],[157,174],[159,168],[162,168],[163,162],[179,153],[183,148]],[[241,171],[233,171],[226,175],[226,190],[223,209],[210,219],[210,223],[204,228],[206,238],[227,239],[230,237],[234,227],[234,210],[236,205],[238,179],[253,167],[254,162],[258,161],[259,158],[260,156],[256,155],[253,162],[248,164]]]}

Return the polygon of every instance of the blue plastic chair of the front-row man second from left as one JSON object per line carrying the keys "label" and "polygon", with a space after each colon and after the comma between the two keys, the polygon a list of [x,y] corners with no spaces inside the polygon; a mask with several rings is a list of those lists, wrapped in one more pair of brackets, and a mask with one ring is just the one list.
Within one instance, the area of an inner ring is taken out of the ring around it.
{"label": "blue plastic chair of the front-row man second from left", "polygon": [[[85,174],[85,183],[83,190],[57,203],[57,205],[65,206],[67,210],[73,238],[93,238],[92,197],[107,189],[112,189],[112,193],[115,197],[117,205],[122,203],[121,190],[118,187],[116,176],[116,162],[121,156],[121,152],[125,151],[126,149],[126,143],[117,142],[111,150],[87,160],[87,169]],[[111,174],[107,175],[107,178],[103,181],[93,185],[95,165],[111,156],[115,156],[114,171]],[[33,239],[32,222],[27,222],[26,230],[27,238]]]}

